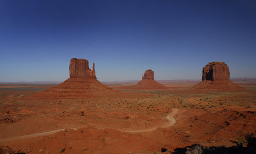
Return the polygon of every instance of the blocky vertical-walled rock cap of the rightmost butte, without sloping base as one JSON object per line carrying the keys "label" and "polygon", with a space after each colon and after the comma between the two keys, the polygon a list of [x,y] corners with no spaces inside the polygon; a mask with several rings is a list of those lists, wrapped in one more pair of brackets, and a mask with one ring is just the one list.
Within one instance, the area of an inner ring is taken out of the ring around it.
{"label": "blocky vertical-walled rock cap of the rightmost butte, without sloping base", "polygon": [[229,69],[225,62],[209,62],[203,68],[202,80],[229,80]]}

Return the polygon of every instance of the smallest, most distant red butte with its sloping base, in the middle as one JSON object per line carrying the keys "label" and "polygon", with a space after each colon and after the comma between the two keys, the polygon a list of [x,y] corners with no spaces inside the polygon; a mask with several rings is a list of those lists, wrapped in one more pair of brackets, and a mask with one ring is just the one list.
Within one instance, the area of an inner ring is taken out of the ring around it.
{"label": "smallest, most distant red butte with its sloping base, in the middle", "polygon": [[158,83],[155,81],[154,77],[154,71],[151,69],[148,69],[145,71],[144,74],[142,74],[142,80],[136,85],[136,87],[141,89],[167,89],[168,87],[165,87],[161,83]]}

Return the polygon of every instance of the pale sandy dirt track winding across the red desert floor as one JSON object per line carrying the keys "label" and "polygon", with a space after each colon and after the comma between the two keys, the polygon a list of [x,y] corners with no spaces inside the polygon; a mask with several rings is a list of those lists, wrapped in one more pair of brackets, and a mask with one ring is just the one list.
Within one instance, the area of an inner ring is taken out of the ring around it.
{"label": "pale sandy dirt track winding across the red desert floor", "polygon": [[[164,127],[170,127],[171,125],[174,125],[176,123],[174,115],[177,112],[178,112],[178,109],[173,109],[172,113],[170,115],[166,116],[166,118],[167,118],[167,120],[169,120],[169,122],[164,124],[164,125],[161,125],[159,127],[164,128]],[[159,127],[153,127],[153,128],[150,128],[150,129],[142,129],[142,130],[119,130],[119,131],[122,131],[122,132],[148,132],[148,131],[156,130]],[[51,130],[51,131],[48,131],[48,132],[40,132],[40,133],[35,133],[35,134],[29,134],[29,135],[26,135],[26,136],[9,137],[9,138],[5,138],[5,139],[0,139],[0,143],[7,143],[7,142],[10,142],[10,141],[16,141],[16,140],[20,140],[20,139],[28,139],[28,138],[31,138],[31,137],[47,136],[47,135],[50,135],[50,134],[54,134],[56,132],[60,132],[62,130],[65,130],[65,129]],[[77,129],[73,129],[73,130],[77,130]]]}

